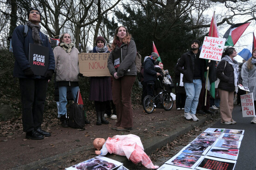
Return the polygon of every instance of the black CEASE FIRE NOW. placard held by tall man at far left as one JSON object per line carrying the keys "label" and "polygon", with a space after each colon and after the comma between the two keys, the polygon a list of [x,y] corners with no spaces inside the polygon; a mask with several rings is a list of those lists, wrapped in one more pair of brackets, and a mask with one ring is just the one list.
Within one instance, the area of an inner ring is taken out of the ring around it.
{"label": "black CEASE FIRE NOW. placard held by tall man at far left", "polygon": [[44,76],[48,70],[49,48],[29,43],[29,65],[34,75]]}

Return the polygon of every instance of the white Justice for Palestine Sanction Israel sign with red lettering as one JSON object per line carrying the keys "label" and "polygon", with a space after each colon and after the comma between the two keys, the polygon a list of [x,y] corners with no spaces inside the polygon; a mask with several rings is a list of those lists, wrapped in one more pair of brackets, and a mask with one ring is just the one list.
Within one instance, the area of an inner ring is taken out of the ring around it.
{"label": "white Justice for Palestine Sanction Israel sign with red lettering", "polygon": [[199,58],[220,61],[226,39],[204,37]]}

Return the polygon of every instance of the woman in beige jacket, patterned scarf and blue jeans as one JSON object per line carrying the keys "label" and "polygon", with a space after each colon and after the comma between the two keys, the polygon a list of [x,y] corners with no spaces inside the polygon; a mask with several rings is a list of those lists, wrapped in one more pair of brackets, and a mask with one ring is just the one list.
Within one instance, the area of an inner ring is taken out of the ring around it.
{"label": "woman in beige jacket, patterned scarf and blue jeans", "polygon": [[78,85],[78,49],[71,42],[71,37],[68,33],[61,35],[60,44],[54,48],[55,59],[55,76],[59,87],[59,110],[62,127],[68,127],[67,124],[67,87],[70,86],[73,99],[75,101]]}

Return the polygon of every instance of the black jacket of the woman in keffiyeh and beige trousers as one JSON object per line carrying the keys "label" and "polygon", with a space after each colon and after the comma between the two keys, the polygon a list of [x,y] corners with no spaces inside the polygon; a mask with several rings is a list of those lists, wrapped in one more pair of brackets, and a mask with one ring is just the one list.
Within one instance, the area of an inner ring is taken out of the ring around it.
{"label": "black jacket of the woman in keffiyeh and beige trousers", "polygon": [[[225,67],[225,62],[226,67]],[[225,69],[224,69],[225,67]],[[224,70],[224,71],[223,71]],[[224,74],[223,74],[223,73]],[[218,85],[218,89],[225,90],[228,92],[234,92],[235,91],[235,83],[234,83],[234,69],[232,65],[229,64],[226,60],[221,60],[216,68],[216,76],[221,81]]]}

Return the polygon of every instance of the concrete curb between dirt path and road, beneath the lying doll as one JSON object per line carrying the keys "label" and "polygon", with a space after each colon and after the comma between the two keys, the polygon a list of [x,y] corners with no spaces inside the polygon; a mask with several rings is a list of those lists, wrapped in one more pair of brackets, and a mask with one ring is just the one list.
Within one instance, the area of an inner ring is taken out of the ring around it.
{"label": "concrete curb between dirt path and road, beneath the lying doll", "polygon": [[[205,116],[197,116],[197,117],[200,119],[198,122],[190,121],[187,124],[181,124],[182,126],[177,127],[176,129],[174,129],[174,131],[170,131],[170,132],[166,133],[165,136],[162,138],[159,136],[155,136],[155,137],[149,138],[147,141],[144,140],[143,146],[144,146],[145,152],[148,155],[151,154],[156,149],[161,148],[161,147],[165,146],[166,144],[168,144],[169,142],[173,141],[176,137],[178,137],[184,133],[187,133],[188,131],[193,130],[195,127],[200,126],[208,119],[208,117],[205,117]],[[147,136],[145,135],[145,137],[147,137]],[[48,157],[48,158],[41,159],[41,160],[38,160],[38,161],[35,161],[32,163],[28,163],[26,165],[21,165],[21,166],[15,167],[11,170],[37,170],[37,169],[41,170],[42,167],[44,167],[46,165],[51,165],[51,164],[61,165],[62,159],[65,159],[65,158],[68,159],[68,157],[71,157],[72,155],[75,155],[80,151],[84,151],[84,152],[91,151],[91,148],[82,146],[82,147],[76,148],[74,150],[70,150],[65,153],[55,155],[53,157]],[[126,157],[110,155],[110,154],[108,154],[106,157],[115,159],[116,161],[123,163],[123,165],[126,168],[128,168],[129,170],[132,170],[135,168],[135,164],[132,163],[131,161],[129,161]],[[33,167],[33,168],[31,168],[31,167]],[[44,170],[47,170],[47,169],[44,169]]]}

